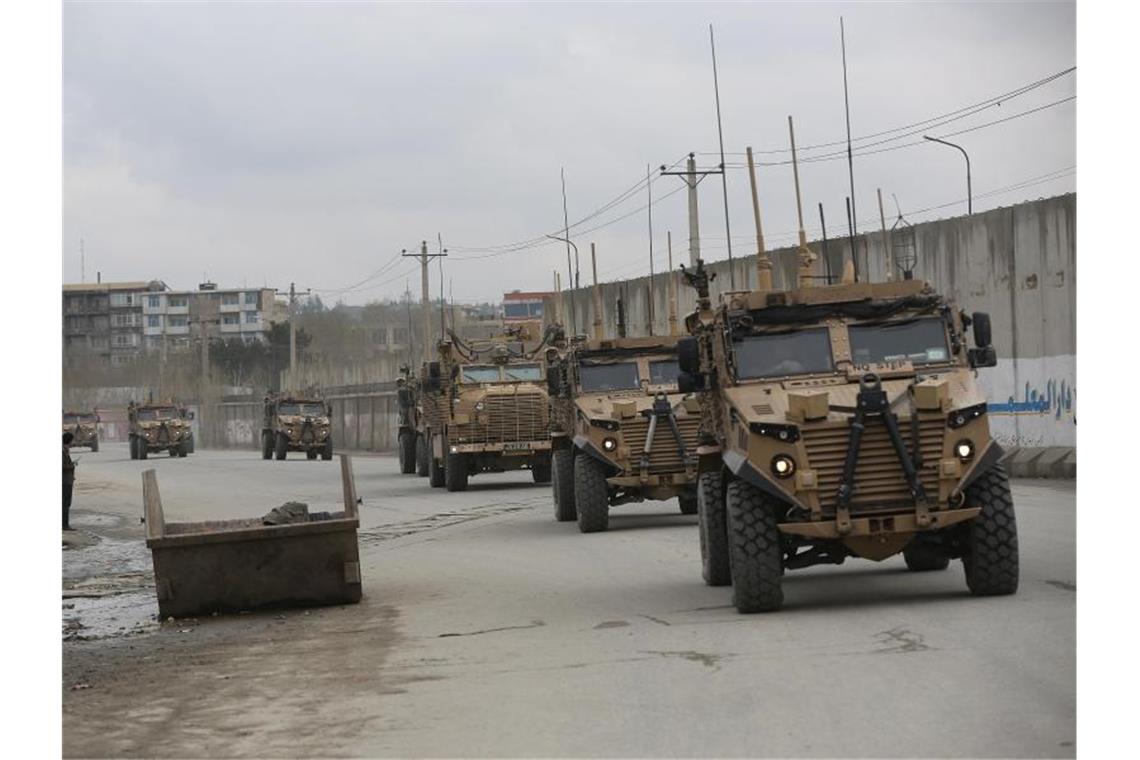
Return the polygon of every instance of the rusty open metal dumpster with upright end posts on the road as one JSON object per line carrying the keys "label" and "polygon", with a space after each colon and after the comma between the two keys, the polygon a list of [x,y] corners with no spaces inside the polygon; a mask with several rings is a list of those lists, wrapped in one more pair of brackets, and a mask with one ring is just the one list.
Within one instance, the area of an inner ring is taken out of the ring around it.
{"label": "rusty open metal dumpster with upright end posts on the road", "polygon": [[262,518],[166,523],[154,469],[142,473],[146,545],[158,612],[186,618],[360,600],[356,483],[341,455],[344,512],[283,525]]}

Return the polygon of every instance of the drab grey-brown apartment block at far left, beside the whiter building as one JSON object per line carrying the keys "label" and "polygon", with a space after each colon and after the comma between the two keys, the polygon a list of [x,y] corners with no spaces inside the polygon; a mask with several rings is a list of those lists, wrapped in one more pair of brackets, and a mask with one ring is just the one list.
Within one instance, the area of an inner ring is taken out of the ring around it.
{"label": "drab grey-brown apartment block at far left, beside the whiter building", "polygon": [[142,346],[142,299],[165,289],[161,280],[64,285],[65,357],[133,359]]}

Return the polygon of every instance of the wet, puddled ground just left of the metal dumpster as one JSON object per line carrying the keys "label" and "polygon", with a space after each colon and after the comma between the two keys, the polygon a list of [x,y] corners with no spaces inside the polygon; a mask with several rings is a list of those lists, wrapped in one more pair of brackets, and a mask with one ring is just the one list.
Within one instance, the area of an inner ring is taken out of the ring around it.
{"label": "wet, puddled ground just left of the metal dumpster", "polygon": [[141,531],[128,526],[125,517],[96,513],[76,513],[72,525],[79,536],[64,549],[64,640],[157,630],[150,553]]}

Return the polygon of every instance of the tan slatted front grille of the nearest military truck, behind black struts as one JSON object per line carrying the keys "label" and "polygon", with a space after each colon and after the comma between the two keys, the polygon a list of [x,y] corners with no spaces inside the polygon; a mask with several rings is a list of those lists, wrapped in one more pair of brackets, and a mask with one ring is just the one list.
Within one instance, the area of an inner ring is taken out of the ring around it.
{"label": "tan slatted front grille of the nearest military truck, behind black struts", "polygon": [[[938,461],[942,459],[943,440],[946,433],[946,420],[939,416],[919,418],[919,440],[922,452],[922,466],[919,480],[927,496],[938,497]],[[906,450],[913,446],[913,433],[909,418],[898,420],[898,432]],[[807,448],[808,466],[816,472],[820,484],[820,506],[825,510],[834,510],[836,493],[844,473],[844,459],[847,456],[849,425],[826,423],[803,428],[804,444]],[[902,464],[895,453],[887,427],[882,420],[869,417],[863,440],[860,443],[858,459],[855,465],[855,493],[852,497],[852,509],[873,509],[902,504],[912,504],[910,489]]]}

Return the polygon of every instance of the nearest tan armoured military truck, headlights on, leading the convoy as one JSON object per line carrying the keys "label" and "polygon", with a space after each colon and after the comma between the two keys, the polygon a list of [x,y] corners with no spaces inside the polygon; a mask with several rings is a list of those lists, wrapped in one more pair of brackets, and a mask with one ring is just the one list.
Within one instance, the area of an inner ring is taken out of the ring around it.
{"label": "nearest tan armoured military truck, headlights on, leading the convoy", "polygon": [[679,386],[701,403],[706,582],[731,582],[740,612],[772,611],[785,570],[902,551],[912,571],[961,559],[975,595],[1017,590],[1013,501],[976,371],[996,363],[987,314],[918,280],[812,287],[803,273],[714,308],[703,265],[686,275],[699,305]]}

